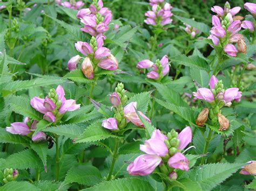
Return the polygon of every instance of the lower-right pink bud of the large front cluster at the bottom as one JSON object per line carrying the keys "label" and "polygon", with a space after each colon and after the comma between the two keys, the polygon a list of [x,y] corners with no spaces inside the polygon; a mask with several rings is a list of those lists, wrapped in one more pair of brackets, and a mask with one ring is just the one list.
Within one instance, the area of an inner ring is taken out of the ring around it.
{"label": "lower-right pink bud of the large front cluster at the bottom", "polygon": [[181,153],[176,153],[174,154],[169,160],[168,160],[168,165],[172,168],[179,168],[183,171],[188,171],[190,167],[188,166],[190,164],[190,161],[187,160],[187,158],[181,154]]}

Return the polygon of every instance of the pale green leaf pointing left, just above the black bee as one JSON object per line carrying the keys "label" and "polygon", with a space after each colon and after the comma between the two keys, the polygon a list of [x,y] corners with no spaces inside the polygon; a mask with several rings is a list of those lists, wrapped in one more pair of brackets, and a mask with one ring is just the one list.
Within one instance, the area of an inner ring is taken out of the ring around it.
{"label": "pale green leaf pointing left, just above the black bee", "polygon": [[84,131],[84,127],[77,124],[66,124],[66,125],[58,125],[52,126],[51,128],[47,128],[44,132],[52,132],[59,136],[65,136],[68,138],[76,138],[81,135]]}

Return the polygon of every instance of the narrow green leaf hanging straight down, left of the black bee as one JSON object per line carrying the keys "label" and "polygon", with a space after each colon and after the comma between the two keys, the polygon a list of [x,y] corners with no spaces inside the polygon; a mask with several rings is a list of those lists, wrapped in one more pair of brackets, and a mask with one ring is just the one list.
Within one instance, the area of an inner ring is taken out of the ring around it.
{"label": "narrow green leaf hanging straight down, left of the black bee", "polygon": [[38,156],[41,158],[45,172],[47,172],[47,153],[48,153],[48,143],[40,142],[40,143],[32,143],[30,144],[32,150],[34,150]]}

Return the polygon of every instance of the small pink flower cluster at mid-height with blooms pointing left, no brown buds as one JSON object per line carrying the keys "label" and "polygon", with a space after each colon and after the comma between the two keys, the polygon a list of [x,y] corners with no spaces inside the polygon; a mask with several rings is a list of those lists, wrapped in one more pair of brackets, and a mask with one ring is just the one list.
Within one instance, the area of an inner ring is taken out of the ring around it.
{"label": "small pink flower cluster at mid-height with blooms pointing left, no brown buds", "polygon": [[169,74],[170,66],[167,55],[164,55],[161,60],[157,59],[156,63],[150,60],[142,60],[137,63],[137,68],[146,69],[151,68],[152,70],[147,73],[147,78],[160,81],[165,75]]}

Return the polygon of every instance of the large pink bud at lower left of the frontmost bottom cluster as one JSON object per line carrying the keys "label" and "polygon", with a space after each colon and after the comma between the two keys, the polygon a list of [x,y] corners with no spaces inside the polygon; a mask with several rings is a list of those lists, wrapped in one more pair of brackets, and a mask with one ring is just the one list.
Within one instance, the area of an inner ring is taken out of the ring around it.
{"label": "large pink bud at lower left of the frontmost bottom cluster", "polygon": [[161,161],[161,157],[158,157],[157,155],[142,154],[131,162],[127,167],[127,171],[130,175],[149,175],[161,163]]}

